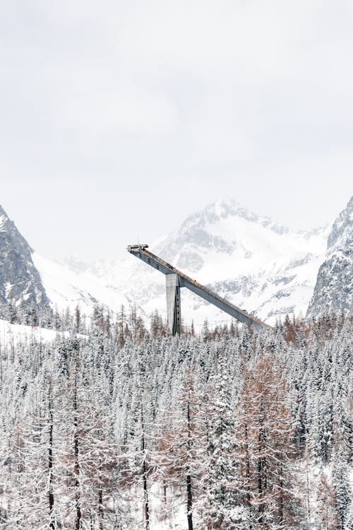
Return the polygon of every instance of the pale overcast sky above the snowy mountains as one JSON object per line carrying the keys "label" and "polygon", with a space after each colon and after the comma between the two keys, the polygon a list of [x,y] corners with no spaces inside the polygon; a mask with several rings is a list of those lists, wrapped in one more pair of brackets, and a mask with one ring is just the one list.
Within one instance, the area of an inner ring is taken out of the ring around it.
{"label": "pale overcast sky above the snowy mountains", "polygon": [[352,195],[352,0],[0,14],[0,204],[37,252],[114,258],[221,197],[311,228]]}

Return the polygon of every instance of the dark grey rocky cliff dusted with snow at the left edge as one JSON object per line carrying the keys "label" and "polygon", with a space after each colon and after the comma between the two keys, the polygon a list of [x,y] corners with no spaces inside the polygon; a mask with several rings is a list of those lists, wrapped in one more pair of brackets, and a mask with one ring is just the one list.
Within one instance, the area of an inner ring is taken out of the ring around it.
{"label": "dark grey rocky cliff dusted with snow at the left edge", "polygon": [[49,310],[32,249],[0,206],[0,304],[9,302],[37,313]]}

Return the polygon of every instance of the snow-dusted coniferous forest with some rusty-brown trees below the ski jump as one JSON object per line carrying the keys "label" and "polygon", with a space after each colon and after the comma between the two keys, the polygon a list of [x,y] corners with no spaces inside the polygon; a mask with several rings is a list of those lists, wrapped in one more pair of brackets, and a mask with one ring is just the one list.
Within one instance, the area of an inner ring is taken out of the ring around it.
{"label": "snow-dusted coniferous forest with some rusty-brown trees below the ski jump", "polygon": [[49,319],[0,355],[0,528],[353,529],[353,321]]}

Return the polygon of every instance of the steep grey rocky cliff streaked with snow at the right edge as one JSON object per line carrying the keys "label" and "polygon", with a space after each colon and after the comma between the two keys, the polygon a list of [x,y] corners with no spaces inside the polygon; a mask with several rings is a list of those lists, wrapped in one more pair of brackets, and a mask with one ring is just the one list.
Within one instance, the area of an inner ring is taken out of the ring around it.
{"label": "steep grey rocky cliff streaked with snow at the right edge", "polygon": [[353,310],[353,196],[328,236],[307,316],[316,317],[325,310]]}

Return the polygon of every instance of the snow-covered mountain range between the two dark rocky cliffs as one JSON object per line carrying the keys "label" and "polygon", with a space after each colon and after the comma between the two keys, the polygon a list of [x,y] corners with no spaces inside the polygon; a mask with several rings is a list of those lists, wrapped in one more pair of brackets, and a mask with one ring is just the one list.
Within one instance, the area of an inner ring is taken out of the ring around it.
{"label": "snow-covered mountain range between the two dark rocky cliffs", "polygon": [[[294,232],[227,200],[193,213],[150,250],[271,324],[286,313],[305,314],[327,236],[328,228]],[[155,309],[165,314],[164,276],[131,255],[93,264],[74,258],[53,264],[36,255],[34,261],[49,298],[61,307],[80,301],[89,310],[98,300],[116,311],[136,303],[146,315]],[[181,311],[196,326],[206,317],[229,322],[225,313],[186,289]]]}

